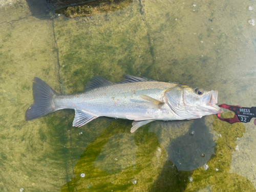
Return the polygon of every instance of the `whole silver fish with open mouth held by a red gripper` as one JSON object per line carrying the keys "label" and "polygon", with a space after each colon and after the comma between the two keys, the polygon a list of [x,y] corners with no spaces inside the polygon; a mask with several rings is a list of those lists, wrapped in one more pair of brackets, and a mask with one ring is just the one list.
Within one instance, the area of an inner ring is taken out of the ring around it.
{"label": "whole silver fish with open mouth held by a red gripper", "polygon": [[116,83],[95,76],[84,92],[70,95],[59,94],[45,81],[34,77],[33,99],[26,111],[27,120],[73,109],[73,126],[83,126],[101,116],[130,119],[133,120],[131,133],[156,120],[197,119],[223,112],[216,105],[218,91],[133,75],[125,75],[123,81]]}

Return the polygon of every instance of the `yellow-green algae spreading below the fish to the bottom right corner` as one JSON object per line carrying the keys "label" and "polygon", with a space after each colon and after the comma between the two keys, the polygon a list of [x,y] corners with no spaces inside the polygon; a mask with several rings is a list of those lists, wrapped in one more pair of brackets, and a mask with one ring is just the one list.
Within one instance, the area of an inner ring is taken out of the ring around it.
{"label": "yellow-green algae spreading below the fish to the bottom right corner", "polygon": [[[148,126],[142,127],[134,136],[136,145],[136,152],[132,153],[135,154],[134,164],[123,168],[115,167],[120,160],[114,159],[118,154],[113,155],[112,159],[102,157],[99,161],[106,162],[101,166],[100,162],[95,164],[102,150],[106,150],[104,154],[112,154],[113,148],[118,149],[118,147],[104,149],[104,146],[110,146],[109,142],[112,146],[117,146],[118,139],[111,140],[111,138],[117,135],[119,135],[117,138],[120,138],[120,135],[128,134],[129,130],[123,128],[126,124],[127,122],[123,120],[113,121],[87,146],[74,168],[74,177],[62,187],[61,191],[198,191],[207,186],[210,186],[212,191],[255,191],[248,179],[229,173],[231,154],[236,146],[234,141],[242,137],[245,132],[243,124],[231,125],[214,116],[212,124],[221,137],[216,142],[215,155],[212,155],[207,162],[209,166],[207,170],[200,167],[188,172],[182,171],[178,170],[171,161],[165,161],[166,153],[156,134],[148,132]],[[133,142],[129,143],[134,147]],[[157,158],[156,152],[160,147],[162,153]],[[126,156],[129,156],[129,150],[126,152],[128,154]],[[110,167],[112,169],[109,169]],[[81,174],[85,174],[85,177],[81,177]],[[192,177],[193,182],[189,182],[188,177]],[[135,185],[132,183],[134,180],[137,181]]]}

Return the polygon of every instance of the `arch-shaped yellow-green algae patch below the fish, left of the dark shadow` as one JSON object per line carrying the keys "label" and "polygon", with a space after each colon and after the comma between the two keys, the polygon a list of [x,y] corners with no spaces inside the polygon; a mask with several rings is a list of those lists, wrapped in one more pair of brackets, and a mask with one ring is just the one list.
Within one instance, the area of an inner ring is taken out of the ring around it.
{"label": "arch-shaped yellow-green algae patch below the fish, left of the dark shadow", "polygon": [[[161,170],[161,165],[157,163],[157,158],[155,157],[155,152],[160,144],[156,134],[148,132],[146,127],[138,131],[134,136],[134,143],[136,145],[134,148],[136,150],[135,164],[129,164],[126,168],[121,169],[114,168],[111,173],[94,165],[94,161],[112,136],[128,134],[130,132],[129,129],[126,129],[127,123],[130,122],[123,120],[113,121],[109,127],[103,130],[102,134],[87,146],[74,168],[74,178],[64,185],[61,191],[130,191],[136,188],[146,189],[151,186],[152,181],[154,181],[157,173]],[[112,140],[112,142],[116,141]],[[134,147],[134,144],[132,146]],[[108,148],[109,150],[110,148]],[[126,156],[129,156],[129,150],[127,153]],[[164,156],[165,153],[161,155],[160,161],[162,161]],[[113,158],[112,164],[114,165],[112,166],[115,167],[119,160]],[[145,174],[148,172],[151,173],[151,176],[145,177]],[[82,173],[85,174],[85,177],[81,177]],[[137,184],[133,184],[135,180]],[[88,187],[89,185],[90,187]]]}

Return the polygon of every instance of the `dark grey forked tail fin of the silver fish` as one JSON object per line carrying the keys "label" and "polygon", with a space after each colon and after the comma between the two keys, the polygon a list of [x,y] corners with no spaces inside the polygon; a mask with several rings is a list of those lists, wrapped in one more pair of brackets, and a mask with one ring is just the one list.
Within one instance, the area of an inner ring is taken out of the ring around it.
{"label": "dark grey forked tail fin of the silver fish", "polygon": [[53,96],[59,95],[48,84],[35,77],[33,82],[34,103],[26,111],[26,119],[32,120],[56,111]]}

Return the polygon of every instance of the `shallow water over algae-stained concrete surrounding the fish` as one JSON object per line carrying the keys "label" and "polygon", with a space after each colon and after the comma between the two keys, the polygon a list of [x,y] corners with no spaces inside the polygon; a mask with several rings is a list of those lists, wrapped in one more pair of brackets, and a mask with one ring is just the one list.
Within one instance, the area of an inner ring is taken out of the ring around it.
{"label": "shallow water over algae-stained concrete surrounding the fish", "polygon": [[70,94],[96,75],[131,74],[255,106],[255,1],[133,1],[75,18],[44,1],[1,3],[1,191],[255,191],[253,122],[212,115],[131,134],[123,119],[73,127],[72,110],[25,120],[35,76]]}

